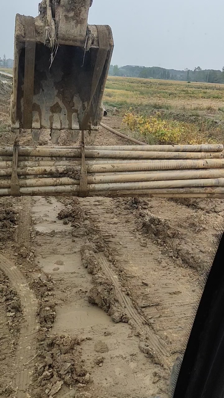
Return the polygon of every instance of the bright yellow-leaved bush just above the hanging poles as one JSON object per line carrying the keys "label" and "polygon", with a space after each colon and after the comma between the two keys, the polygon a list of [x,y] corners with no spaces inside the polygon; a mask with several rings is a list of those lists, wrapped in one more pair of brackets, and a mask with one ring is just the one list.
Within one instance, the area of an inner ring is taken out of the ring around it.
{"label": "bright yellow-leaved bush just above the hanging poles", "polygon": [[148,144],[212,144],[215,137],[202,131],[194,123],[163,119],[160,113],[146,117],[132,112],[124,115],[123,123]]}

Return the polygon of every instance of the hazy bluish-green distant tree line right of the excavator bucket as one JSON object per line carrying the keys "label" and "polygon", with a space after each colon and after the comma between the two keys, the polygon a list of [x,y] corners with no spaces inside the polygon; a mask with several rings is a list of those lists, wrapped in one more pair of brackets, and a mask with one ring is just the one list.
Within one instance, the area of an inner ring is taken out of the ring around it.
{"label": "hazy bluish-green distant tree line right of the excavator bucket", "polygon": [[109,74],[111,76],[127,76],[140,77],[145,79],[165,79],[165,80],[182,80],[187,82],[208,82],[208,83],[224,83],[224,67],[222,70],[205,69],[200,66],[191,70],[165,69],[159,66],[146,68],[145,66],[126,65],[118,67],[118,65],[110,65]]}

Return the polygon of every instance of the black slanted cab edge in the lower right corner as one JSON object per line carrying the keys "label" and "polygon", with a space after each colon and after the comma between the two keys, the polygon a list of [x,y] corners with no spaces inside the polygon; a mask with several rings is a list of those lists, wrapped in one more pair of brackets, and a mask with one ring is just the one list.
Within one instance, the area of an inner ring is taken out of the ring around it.
{"label": "black slanted cab edge in the lower right corner", "polygon": [[171,398],[224,397],[224,235],[198,306]]}

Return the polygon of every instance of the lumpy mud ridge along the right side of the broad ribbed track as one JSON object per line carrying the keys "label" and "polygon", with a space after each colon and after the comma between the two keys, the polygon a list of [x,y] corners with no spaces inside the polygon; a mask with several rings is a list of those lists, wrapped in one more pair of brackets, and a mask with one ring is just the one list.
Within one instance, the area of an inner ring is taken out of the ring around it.
{"label": "lumpy mud ridge along the right side of the broad ribbed track", "polygon": [[118,199],[118,203],[136,214],[137,229],[144,236],[149,236],[154,243],[159,244],[165,254],[175,259],[178,265],[187,265],[202,272],[208,268],[210,259],[189,240],[189,230],[198,234],[205,229],[204,219],[194,215],[194,219],[191,217],[182,219],[183,225],[179,225],[175,220],[171,222],[153,215],[155,201],[152,202],[150,199]]}

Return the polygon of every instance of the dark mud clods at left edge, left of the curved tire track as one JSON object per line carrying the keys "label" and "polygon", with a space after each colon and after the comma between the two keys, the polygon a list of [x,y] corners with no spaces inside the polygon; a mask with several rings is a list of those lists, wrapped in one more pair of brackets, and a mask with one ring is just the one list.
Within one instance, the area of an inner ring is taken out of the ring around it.
{"label": "dark mud clods at left edge, left of the curved tire track", "polygon": [[20,321],[22,316],[20,298],[18,297],[16,290],[10,286],[9,279],[1,270],[0,304],[4,305],[10,333],[17,336],[20,332]]}

